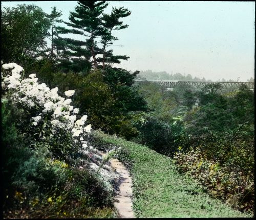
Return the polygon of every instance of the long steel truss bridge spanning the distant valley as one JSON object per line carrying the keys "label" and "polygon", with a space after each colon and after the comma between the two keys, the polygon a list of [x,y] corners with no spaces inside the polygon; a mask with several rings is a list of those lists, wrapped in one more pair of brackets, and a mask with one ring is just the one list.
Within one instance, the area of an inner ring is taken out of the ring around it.
{"label": "long steel truss bridge spanning the distant valley", "polygon": [[178,80],[135,80],[135,82],[155,82],[160,84],[162,88],[174,89],[175,87],[181,86],[185,88],[204,88],[209,84],[220,84],[220,92],[235,92],[239,90],[241,85],[247,85],[250,90],[254,91],[254,83],[248,82],[201,82],[201,81],[178,81]]}

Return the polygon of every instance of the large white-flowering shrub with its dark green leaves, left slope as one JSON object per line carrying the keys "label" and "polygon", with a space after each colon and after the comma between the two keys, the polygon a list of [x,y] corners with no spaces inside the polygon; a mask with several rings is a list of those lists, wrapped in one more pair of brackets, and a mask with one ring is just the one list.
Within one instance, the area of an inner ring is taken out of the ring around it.
{"label": "large white-flowering shrub with its dark green leaves, left slope", "polygon": [[[79,109],[74,109],[70,99],[74,90],[66,91],[66,98],[61,97],[57,87],[50,89],[45,83],[39,84],[35,74],[24,79],[23,67],[15,63],[3,64],[2,68],[4,100],[24,110],[26,115],[20,127],[26,134],[36,141],[48,143],[56,157],[67,156],[71,150],[74,153],[79,148],[89,149],[84,139],[91,125],[84,126],[87,115],[77,118]],[[2,102],[4,100],[2,98]]]}

